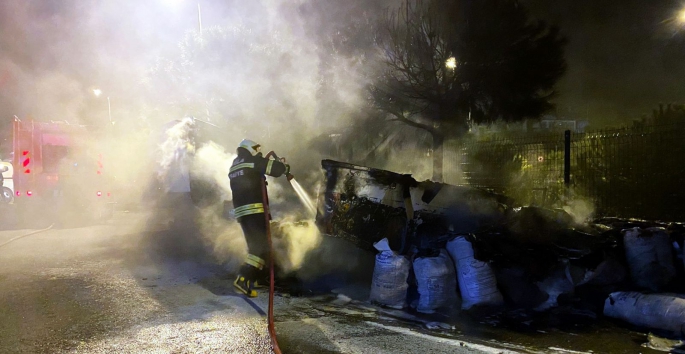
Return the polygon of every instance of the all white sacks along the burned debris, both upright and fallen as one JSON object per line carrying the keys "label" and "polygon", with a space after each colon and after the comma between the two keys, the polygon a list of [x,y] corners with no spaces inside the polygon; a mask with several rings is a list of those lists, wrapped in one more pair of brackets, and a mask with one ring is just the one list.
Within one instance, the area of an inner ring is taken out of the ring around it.
{"label": "all white sacks along the burned debris, both upright and fallen", "polygon": [[[659,293],[676,277],[668,233],[663,228],[636,227],[622,230],[622,236],[628,269],[618,273],[627,273],[632,288],[644,291],[609,294],[604,315],[642,327],[685,335],[685,295]],[[457,306],[467,310],[474,306],[503,305],[493,269],[489,263],[474,258],[473,246],[464,237],[449,241],[445,249],[433,257],[399,255],[390,249],[387,239],[374,246],[379,253],[371,284],[372,302],[397,309],[411,306],[422,313]],[[408,304],[408,278],[412,267],[419,298]],[[572,293],[575,286],[593,281],[600,276],[599,273],[602,273],[602,266],[579,277],[571,276],[569,268],[553,272],[536,284],[549,298],[535,310],[556,306],[558,295]],[[623,277],[609,274],[613,275]],[[601,276],[606,277],[607,274]]]}

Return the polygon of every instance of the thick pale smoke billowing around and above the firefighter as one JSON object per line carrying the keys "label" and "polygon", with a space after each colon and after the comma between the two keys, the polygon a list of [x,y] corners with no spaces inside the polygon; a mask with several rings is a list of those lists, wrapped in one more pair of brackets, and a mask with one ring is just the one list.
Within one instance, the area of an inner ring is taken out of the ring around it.
{"label": "thick pale smoke billowing around and above the firefighter", "polygon": [[[369,41],[355,39],[359,50],[350,52],[341,33],[381,14],[386,2],[207,1],[201,33],[196,5],[2,2],[0,104],[10,117],[96,127],[97,138],[82,148],[104,152],[119,210],[149,210],[143,231],[175,227],[169,213],[179,206],[164,198],[179,171],[188,170],[196,190],[220,191],[192,195],[193,217],[183,222],[194,231],[181,225],[141,247],[234,268],[245,241],[223,203],[232,207],[227,170],[235,147],[250,138],[286,157],[316,197],[321,159],[339,157],[330,135],[366,105],[368,75],[358,70]],[[288,181],[268,182],[275,221],[292,225],[282,227],[278,245],[288,253],[278,258],[295,270],[320,235]]]}

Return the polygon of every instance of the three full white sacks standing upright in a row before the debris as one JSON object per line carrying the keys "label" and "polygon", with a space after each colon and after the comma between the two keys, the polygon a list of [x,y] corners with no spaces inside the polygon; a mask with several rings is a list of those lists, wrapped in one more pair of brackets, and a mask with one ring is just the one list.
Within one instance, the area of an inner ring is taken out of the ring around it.
{"label": "three full white sacks standing upright in a row before the debris", "polygon": [[[456,306],[470,309],[503,304],[490,265],[474,258],[471,243],[462,236],[449,241],[433,257],[410,259],[398,255],[390,249],[387,239],[374,247],[379,253],[371,283],[372,302],[398,309],[411,306],[422,313]],[[407,279],[412,267],[419,298],[407,304]]]}

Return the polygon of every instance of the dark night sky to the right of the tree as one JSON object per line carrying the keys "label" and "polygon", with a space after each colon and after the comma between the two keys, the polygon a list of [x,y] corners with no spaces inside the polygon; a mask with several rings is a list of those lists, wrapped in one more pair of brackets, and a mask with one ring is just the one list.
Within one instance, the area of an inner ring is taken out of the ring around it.
{"label": "dark night sky to the right of the tree", "polygon": [[525,0],[568,37],[558,114],[592,126],[630,122],[659,103],[685,103],[681,1]]}

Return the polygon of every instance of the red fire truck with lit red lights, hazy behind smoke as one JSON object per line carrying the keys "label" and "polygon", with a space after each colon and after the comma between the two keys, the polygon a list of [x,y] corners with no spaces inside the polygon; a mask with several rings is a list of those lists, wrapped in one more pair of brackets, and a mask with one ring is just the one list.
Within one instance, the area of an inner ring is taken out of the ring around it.
{"label": "red fire truck with lit red lights, hazy behind smoke", "polygon": [[114,208],[106,133],[66,121],[12,126],[14,204],[29,217],[102,220]]}

